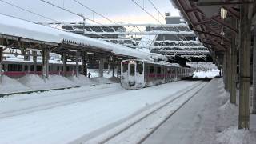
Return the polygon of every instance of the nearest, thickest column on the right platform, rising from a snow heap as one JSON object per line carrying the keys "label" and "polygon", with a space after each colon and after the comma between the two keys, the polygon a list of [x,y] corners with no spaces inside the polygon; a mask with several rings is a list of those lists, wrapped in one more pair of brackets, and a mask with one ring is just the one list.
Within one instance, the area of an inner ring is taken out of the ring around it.
{"label": "nearest, thickest column on the right platform, rising from a snow heap", "polygon": [[248,5],[240,9],[240,49],[239,49],[239,118],[238,128],[249,129],[250,110],[250,19]]}

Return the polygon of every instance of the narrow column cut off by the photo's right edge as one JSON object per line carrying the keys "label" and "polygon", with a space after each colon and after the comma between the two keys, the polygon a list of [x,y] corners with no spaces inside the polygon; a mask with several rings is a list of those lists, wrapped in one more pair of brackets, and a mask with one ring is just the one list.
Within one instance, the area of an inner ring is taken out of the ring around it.
{"label": "narrow column cut off by the photo's right edge", "polygon": [[253,60],[253,89],[252,114],[256,114],[256,28],[254,28],[254,60]]}

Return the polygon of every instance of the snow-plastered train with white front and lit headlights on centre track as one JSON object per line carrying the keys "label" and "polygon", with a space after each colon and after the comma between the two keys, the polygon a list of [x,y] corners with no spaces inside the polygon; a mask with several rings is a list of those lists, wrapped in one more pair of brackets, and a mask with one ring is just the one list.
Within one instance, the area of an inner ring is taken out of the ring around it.
{"label": "snow-plastered train with white front and lit headlights on centre track", "polygon": [[126,89],[141,89],[193,76],[189,67],[174,66],[169,62],[151,62],[128,59],[121,62],[121,86]]}

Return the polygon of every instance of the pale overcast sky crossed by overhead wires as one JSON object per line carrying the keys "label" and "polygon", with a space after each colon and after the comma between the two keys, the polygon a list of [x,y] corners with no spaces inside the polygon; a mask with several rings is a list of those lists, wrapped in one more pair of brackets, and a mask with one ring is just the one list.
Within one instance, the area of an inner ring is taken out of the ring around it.
{"label": "pale overcast sky crossed by overhead wires", "polygon": [[[34,11],[38,14],[42,14],[46,17],[53,18],[59,22],[78,22],[82,21],[82,18],[70,14],[64,10],[60,10],[54,6],[50,6],[40,0],[3,0],[6,2],[14,3],[15,5],[21,6],[22,8]],[[55,5],[61,6],[68,10],[71,10],[78,14],[83,14],[87,18],[94,19],[101,23],[111,23],[104,18],[101,18],[97,14],[93,14],[90,10],[78,5],[73,0],[46,0],[52,2]],[[158,23],[156,20],[151,18],[146,12],[136,6],[131,0],[77,0],[82,4],[90,7],[91,9],[103,14],[107,18],[110,18],[114,22],[125,22],[125,23]],[[163,18],[159,16],[157,10],[150,4],[148,0],[135,0],[140,6],[143,6],[150,14],[154,14],[155,18],[159,18],[163,22]],[[178,16],[178,10],[174,9],[170,0],[151,0],[154,5],[157,6],[158,10],[162,14],[170,12],[172,16]],[[24,10],[19,10],[14,6],[6,5],[0,1],[0,13],[9,14],[18,18],[31,20],[34,22],[50,22],[45,18],[40,18],[34,14],[30,14]]]}

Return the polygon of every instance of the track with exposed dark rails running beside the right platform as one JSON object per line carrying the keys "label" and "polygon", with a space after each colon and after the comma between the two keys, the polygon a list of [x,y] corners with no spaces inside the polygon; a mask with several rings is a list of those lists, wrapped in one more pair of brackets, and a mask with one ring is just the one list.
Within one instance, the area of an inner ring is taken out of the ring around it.
{"label": "track with exposed dark rails running beside the right platform", "polygon": [[[185,97],[186,94],[192,93],[192,94],[190,94],[190,96],[188,98],[186,98],[186,100],[184,102],[182,102],[182,104],[180,106],[178,106],[175,110],[170,112],[170,114],[166,115],[166,117],[162,120],[162,122],[159,122],[156,126],[154,126],[154,128],[151,128],[149,132],[144,134],[142,136],[142,138],[139,138],[136,142],[134,142],[134,143],[142,143],[146,140],[146,138],[149,138],[150,135],[153,134],[155,130],[158,130],[158,128],[160,126],[162,126],[162,124],[164,122],[166,122],[167,119],[169,119],[179,109],[181,109],[182,106],[184,106],[186,104],[186,102],[189,102],[191,98],[193,98],[196,94],[198,94],[198,92],[200,90],[202,90],[202,88],[204,88],[207,83],[208,82],[199,82],[196,86],[192,86],[189,90],[185,90],[185,91],[179,93],[176,97],[171,97],[168,100],[166,100],[166,102],[162,102],[161,104],[159,103],[157,106],[153,106],[153,108],[151,108],[150,110],[147,110],[147,112],[145,114],[143,114],[142,116],[140,116],[139,118],[134,118],[134,120],[132,120],[133,122],[130,122],[126,126],[121,126],[119,129],[117,128],[115,132],[111,132],[111,130],[110,130],[109,134],[106,134],[106,135],[102,134],[102,138],[101,138],[101,136],[92,138],[85,143],[95,143],[95,142],[96,143],[119,143],[119,142],[115,142],[115,139],[118,139],[118,137],[120,137],[120,135],[122,135],[122,134],[125,135],[128,130],[131,130],[131,129],[133,129],[133,127],[141,125],[143,121],[145,121],[147,118],[150,118],[152,115],[156,114],[158,111],[165,109],[166,106],[173,104],[173,102],[175,102],[179,98]],[[119,140],[120,140],[120,138],[119,138]],[[122,140],[122,138],[121,138],[121,140]],[[125,143],[125,142],[123,142],[123,143]]]}

